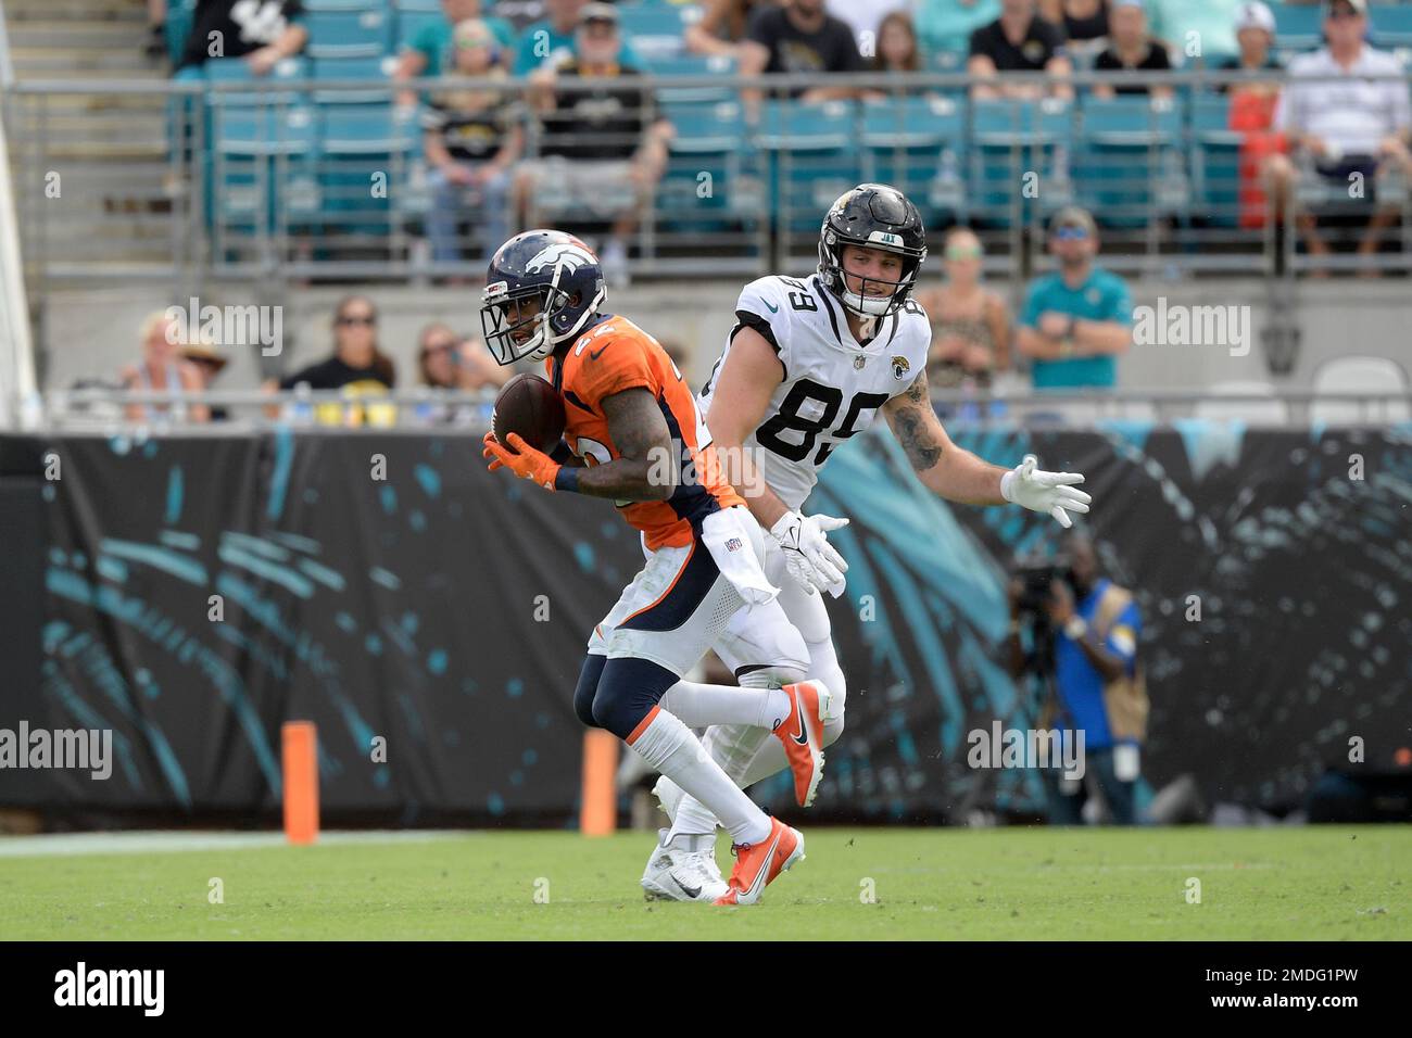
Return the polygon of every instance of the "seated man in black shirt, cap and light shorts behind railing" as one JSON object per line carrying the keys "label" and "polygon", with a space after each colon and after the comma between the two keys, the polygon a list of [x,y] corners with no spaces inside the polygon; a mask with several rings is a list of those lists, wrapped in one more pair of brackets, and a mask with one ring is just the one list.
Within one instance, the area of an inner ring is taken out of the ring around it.
{"label": "seated man in black shirt, cap and light shorts behind railing", "polygon": [[[517,210],[527,225],[551,191],[563,212],[610,220],[599,258],[614,285],[627,282],[627,241],[638,213],[651,210],[651,196],[666,169],[672,124],[655,116],[648,90],[634,85],[641,72],[620,61],[617,8],[594,3],[583,8],[575,35],[576,55],[531,76],[531,102],[544,127],[541,158],[521,164],[515,177]],[[561,89],[573,80],[593,89]]]}

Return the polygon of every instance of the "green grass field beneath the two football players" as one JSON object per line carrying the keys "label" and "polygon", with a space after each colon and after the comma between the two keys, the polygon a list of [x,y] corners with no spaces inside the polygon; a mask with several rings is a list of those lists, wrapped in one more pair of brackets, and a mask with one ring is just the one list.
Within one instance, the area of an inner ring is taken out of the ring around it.
{"label": "green grass field beneath the two football players", "polygon": [[[1412,938],[1412,826],[813,828],[805,837],[808,860],[764,904],[733,909],[644,902],[637,878],[652,837],[642,833],[329,833],[313,847],[275,835],[10,837],[0,839],[0,936]],[[109,853],[114,839],[128,850]],[[205,843],[181,849],[193,839]],[[730,860],[724,840],[719,853]],[[208,900],[212,878],[223,904]],[[1200,904],[1187,904],[1189,878]],[[871,904],[860,897],[868,880]]]}

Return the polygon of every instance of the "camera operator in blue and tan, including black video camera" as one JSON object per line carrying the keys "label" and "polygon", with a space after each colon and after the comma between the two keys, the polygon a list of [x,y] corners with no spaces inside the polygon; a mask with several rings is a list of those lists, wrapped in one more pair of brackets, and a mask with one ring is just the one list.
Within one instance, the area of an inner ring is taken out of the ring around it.
{"label": "camera operator in blue and tan, including black video camera", "polygon": [[[1093,542],[1066,538],[1066,558],[1021,566],[1010,585],[1011,674],[1038,676],[1045,686],[1045,719],[1069,739],[1083,732],[1086,777],[1093,775],[1114,825],[1134,825],[1134,791],[1141,774],[1148,698],[1137,647],[1142,620],[1132,593],[1099,575]],[[1028,648],[1022,631],[1029,634]],[[1082,823],[1083,782],[1046,771],[1049,816],[1055,825]],[[1077,785],[1070,789],[1069,785]]]}

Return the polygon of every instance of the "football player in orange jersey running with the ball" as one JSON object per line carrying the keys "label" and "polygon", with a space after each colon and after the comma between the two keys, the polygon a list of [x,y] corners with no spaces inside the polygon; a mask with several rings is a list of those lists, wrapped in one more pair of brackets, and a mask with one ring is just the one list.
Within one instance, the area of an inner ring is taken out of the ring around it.
{"label": "football player in orange jersey running with the ball", "polygon": [[[486,434],[484,455],[491,469],[545,490],[610,499],[641,531],[647,563],[593,628],[575,712],[627,741],[730,832],[737,859],[729,884],[702,845],[676,856],[676,867],[644,876],[648,897],[753,904],[803,857],[803,837],[755,806],[690,729],[771,730],[808,805],[832,696],[806,679],[803,638],[777,616],[778,587],[760,563],[762,531],[722,475],[692,391],[652,336],[599,311],[604,297],[597,257],[570,234],[530,230],[496,251],[481,309],[486,345],[501,364],[545,362],[565,401],[573,458],[561,462],[514,434],[508,443]],[[741,609],[760,610],[779,631],[770,655],[781,686],[682,681]],[[672,839],[669,832],[664,846]]]}

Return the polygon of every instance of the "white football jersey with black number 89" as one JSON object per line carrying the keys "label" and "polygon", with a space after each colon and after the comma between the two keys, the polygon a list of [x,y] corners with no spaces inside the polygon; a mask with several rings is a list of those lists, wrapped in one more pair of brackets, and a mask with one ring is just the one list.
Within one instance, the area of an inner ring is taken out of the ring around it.
{"label": "white football jersey with black number 89", "polygon": [[932,325],[915,299],[878,318],[873,340],[860,346],[843,304],[816,275],[764,277],[740,292],[736,326],[700,391],[702,414],[710,410],[716,376],[741,328],[760,332],[784,366],[784,381],[746,448],[770,489],[796,510],[833,451],[868,428],[878,408],[926,370],[932,343]]}

